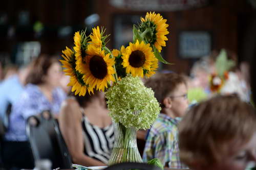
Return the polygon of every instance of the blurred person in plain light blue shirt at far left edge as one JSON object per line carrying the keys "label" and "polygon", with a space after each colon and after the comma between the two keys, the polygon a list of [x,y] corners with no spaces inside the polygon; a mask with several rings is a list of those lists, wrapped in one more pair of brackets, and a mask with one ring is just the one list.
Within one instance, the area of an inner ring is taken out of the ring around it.
{"label": "blurred person in plain light blue shirt at far left edge", "polygon": [[0,117],[4,118],[8,105],[13,105],[24,90],[25,80],[28,76],[31,64],[20,66],[17,74],[6,78],[0,84]]}

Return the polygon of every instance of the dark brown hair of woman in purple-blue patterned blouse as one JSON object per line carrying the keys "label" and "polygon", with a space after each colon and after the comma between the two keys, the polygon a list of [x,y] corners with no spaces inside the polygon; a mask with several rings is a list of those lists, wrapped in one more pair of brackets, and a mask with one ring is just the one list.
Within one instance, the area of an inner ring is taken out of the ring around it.
{"label": "dark brown hair of woman in purple-blue patterned blouse", "polygon": [[26,79],[26,84],[42,84],[44,83],[44,76],[47,75],[48,69],[53,63],[59,62],[56,57],[51,57],[49,55],[40,55],[37,57],[31,65],[29,75]]}

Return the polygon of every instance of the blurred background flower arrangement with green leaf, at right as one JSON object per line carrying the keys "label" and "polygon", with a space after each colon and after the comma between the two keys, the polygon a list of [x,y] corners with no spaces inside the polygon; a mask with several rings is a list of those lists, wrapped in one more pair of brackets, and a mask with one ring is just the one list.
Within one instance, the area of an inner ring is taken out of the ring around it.
{"label": "blurred background flower arrangement with green leaf, at right", "polygon": [[229,78],[229,69],[232,68],[235,63],[232,60],[228,60],[227,52],[222,49],[216,59],[215,65],[217,72],[210,76],[210,90],[214,93],[219,93]]}

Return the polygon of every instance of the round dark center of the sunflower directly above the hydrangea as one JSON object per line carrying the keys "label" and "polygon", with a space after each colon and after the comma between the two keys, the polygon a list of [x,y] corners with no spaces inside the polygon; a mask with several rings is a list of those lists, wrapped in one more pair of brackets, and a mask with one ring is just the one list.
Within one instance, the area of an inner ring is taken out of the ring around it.
{"label": "round dark center of the sunflower directly above the hydrangea", "polygon": [[136,50],[129,57],[129,63],[133,67],[141,67],[146,61],[146,56],[143,52]]}

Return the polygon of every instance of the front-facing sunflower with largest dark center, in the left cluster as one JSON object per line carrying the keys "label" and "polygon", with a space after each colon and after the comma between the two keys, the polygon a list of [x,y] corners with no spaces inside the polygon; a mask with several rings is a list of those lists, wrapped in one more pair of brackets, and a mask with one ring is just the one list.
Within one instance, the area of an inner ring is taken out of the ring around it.
{"label": "front-facing sunflower with largest dark center, in the left cluster", "polygon": [[110,58],[110,53],[105,55],[104,50],[96,49],[92,44],[88,47],[83,81],[92,88],[96,86],[97,90],[104,91],[110,81],[115,81],[115,58]]}

